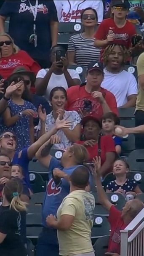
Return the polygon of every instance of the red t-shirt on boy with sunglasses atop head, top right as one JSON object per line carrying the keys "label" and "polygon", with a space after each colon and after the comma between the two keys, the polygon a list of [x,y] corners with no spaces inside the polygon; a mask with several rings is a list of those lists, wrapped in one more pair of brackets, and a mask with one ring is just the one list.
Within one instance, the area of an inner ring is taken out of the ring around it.
{"label": "red t-shirt on boy with sunglasses atop head, top right", "polygon": [[96,31],[95,37],[98,40],[107,39],[107,35],[114,35],[115,40],[112,43],[125,45],[127,48],[131,46],[131,37],[136,34],[134,25],[126,21],[125,26],[118,28],[114,19],[104,19]]}

